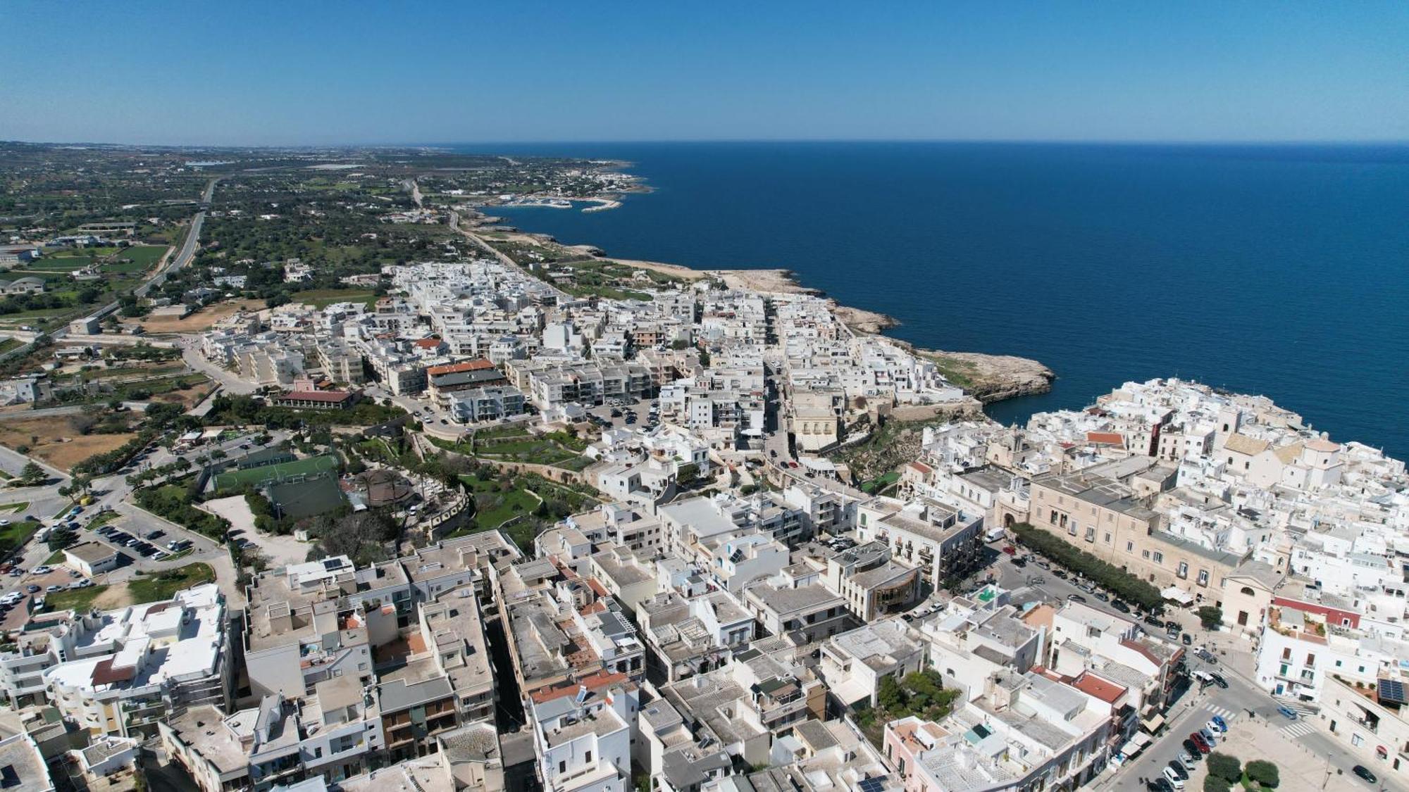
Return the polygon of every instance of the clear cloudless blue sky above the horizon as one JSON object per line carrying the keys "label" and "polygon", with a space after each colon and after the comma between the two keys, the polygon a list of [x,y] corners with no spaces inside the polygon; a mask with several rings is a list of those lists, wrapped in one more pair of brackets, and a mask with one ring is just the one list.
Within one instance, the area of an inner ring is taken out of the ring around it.
{"label": "clear cloudless blue sky above the horizon", "polygon": [[1409,3],[0,3],[0,140],[1409,140]]}

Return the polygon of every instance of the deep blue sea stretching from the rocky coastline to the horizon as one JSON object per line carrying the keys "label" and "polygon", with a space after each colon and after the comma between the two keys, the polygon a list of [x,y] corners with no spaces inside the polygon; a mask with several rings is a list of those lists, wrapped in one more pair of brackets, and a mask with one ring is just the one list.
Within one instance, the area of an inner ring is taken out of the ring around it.
{"label": "deep blue sea stretching from the rocky coastline to the horizon", "polygon": [[788,268],[920,347],[1013,354],[1082,407],[1129,379],[1264,393],[1409,458],[1409,148],[465,145],[630,161],[612,211],[496,210],[609,255]]}

